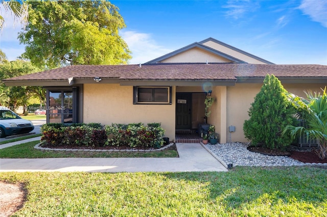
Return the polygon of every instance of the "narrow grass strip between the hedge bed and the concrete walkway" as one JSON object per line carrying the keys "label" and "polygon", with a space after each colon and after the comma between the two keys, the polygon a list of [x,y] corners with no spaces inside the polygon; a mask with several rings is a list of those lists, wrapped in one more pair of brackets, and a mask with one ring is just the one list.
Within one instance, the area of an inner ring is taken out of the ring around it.
{"label": "narrow grass strip between the hedge bed and the concrete walkway", "polygon": [[95,152],[95,151],[44,151],[34,149],[39,141],[24,143],[1,149],[0,158],[54,158],[54,157],[178,157],[175,150],[150,152]]}

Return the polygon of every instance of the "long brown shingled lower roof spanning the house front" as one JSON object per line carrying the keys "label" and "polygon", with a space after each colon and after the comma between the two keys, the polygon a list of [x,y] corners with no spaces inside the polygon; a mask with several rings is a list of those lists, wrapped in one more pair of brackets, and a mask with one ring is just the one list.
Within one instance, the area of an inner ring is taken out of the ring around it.
{"label": "long brown shingled lower roof spanning the house front", "polygon": [[18,76],[6,80],[56,80],[74,78],[117,78],[128,80],[236,80],[239,77],[327,77],[325,65],[261,64],[159,64],[74,65]]}

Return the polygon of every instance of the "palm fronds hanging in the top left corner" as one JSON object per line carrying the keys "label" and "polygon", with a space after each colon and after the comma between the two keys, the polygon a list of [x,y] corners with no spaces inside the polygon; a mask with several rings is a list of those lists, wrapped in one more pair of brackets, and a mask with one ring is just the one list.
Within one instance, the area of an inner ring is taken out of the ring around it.
{"label": "palm fronds hanging in the top left corner", "polygon": [[[28,21],[28,6],[22,0],[16,1],[4,1],[0,0],[0,3],[4,6],[5,12],[9,12],[14,17],[14,20],[19,20],[22,26],[25,26]],[[3,30],[5,19],[0,15],[0,32]]]}

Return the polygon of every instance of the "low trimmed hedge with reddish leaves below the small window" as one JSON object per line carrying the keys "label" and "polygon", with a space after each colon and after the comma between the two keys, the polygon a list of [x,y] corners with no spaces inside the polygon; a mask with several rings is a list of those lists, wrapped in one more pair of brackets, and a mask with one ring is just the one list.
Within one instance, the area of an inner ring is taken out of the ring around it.
{"label": "low trimmed hedge with reddish leaves below the small window", "polygon": [[52,146],[129,146],[132,148],[160,148],[165,130],[160,123],[116,124],[44,124],[41,141]]}

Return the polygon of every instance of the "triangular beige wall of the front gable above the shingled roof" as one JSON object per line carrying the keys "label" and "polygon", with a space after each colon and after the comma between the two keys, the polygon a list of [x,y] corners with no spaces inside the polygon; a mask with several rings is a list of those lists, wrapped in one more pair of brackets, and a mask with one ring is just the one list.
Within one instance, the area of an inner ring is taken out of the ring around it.
{"label": "triangular beige wall of the front gable above the shingled roof", "polygon": [[192,48],[188,51],[178,53],[171,58],[161,61],[161,63],[230,63],[231,61],[214,55],[211,52],[205,51],[200,48]]}

